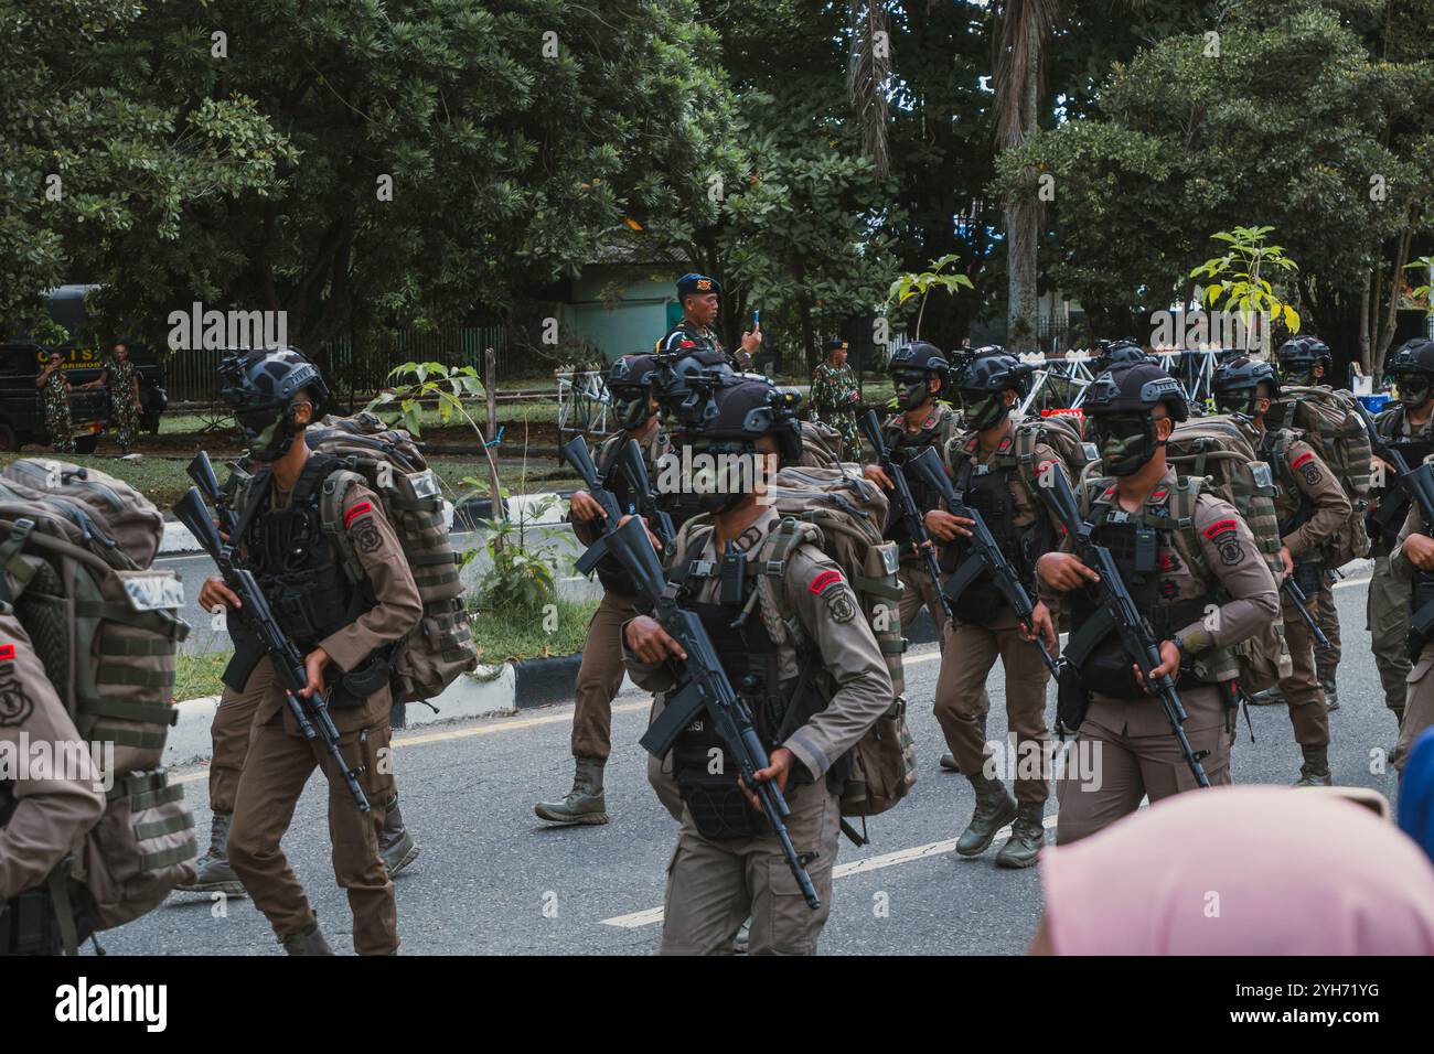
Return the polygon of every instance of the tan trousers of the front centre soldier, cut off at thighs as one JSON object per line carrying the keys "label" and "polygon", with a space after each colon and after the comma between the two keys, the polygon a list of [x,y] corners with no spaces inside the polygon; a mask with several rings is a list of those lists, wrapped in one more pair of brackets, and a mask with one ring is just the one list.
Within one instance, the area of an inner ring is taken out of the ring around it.
{"label": "tan trousers of the front centre soldier, cut off at thighs", "polygon": [[751,918],[749,954],[812,955],[832,911],[832,868],[840,806],[826,780],[789,787],[787,833],[806,865],[822,908],[812,911],[787,868],[776,835],[714,840],[683,812],[677,849],[667,865],[663,955],[730,955],[731,938]]}

